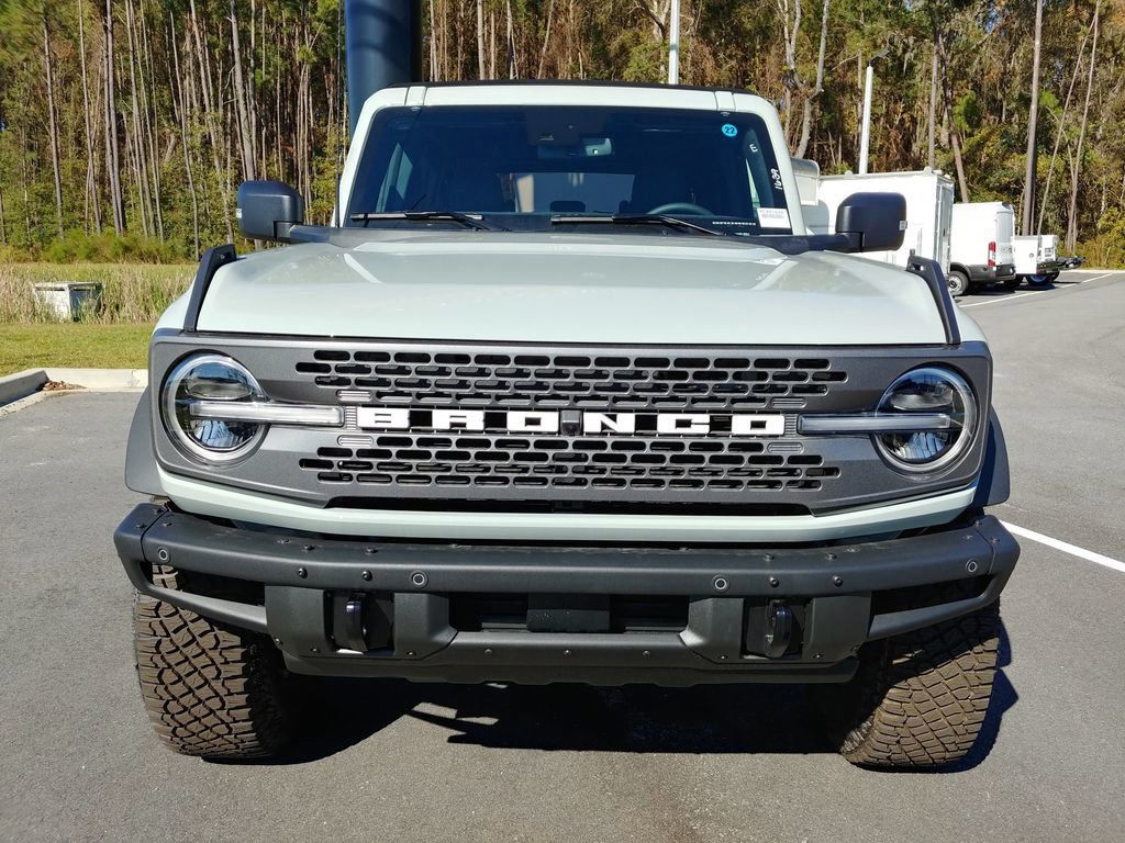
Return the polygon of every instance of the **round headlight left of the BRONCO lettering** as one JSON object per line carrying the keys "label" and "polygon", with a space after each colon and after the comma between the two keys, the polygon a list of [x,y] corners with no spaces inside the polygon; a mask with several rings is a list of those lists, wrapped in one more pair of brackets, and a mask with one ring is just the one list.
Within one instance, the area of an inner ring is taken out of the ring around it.
{"label": "round headlight left of the BRONCO lettering", "polygon": [[267,400],[245,366],[220,354],[198,354],[180,362],[161,399],[164,427],[188,456],[204,462],[233,462],[245,456],[266,435],[258,422],[236,422],[210,413],[215,402]]}

